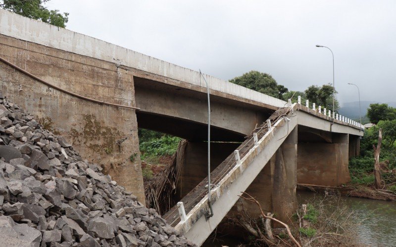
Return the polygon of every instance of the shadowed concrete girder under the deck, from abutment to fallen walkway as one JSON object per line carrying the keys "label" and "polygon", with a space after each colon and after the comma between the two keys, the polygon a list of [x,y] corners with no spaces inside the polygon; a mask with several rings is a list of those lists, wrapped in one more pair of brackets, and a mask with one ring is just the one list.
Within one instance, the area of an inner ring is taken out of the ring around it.
{"label": "shadowed concrete girder under the deck, from abutment to fallen walkway", "polygon": [[[182,131],[180,127],[174,129],[177,135],[189,140],[206,140],[207,136],[207,95],[205,92],[197,92],[186,88],[171,86],[166,83],[155,82],[152,80],[135,77],[135,100],[136,106],[141,108],[138,112],[139,127],[155,127],[153,121],[148,123],[142,121],[139,115],[149,114],[170,116],[172,118],[184,120],[190,131]],[[244,102],[230,100],[218,96],[212,96],[210,99],[210,124],[218,130],[227,130],[228,132],[219,136],[217,131],[212,132],[213,141],[236,141],[243,140],[243,137],[250,134],[255,126],[259,126],[271,115],[272,111],[265,110],[261,107],[250,105]],[[174,120],[175,122],[176,120]],[[193,123],[200,124],[197,131],[191,131],[194,128]],[[171,132],[172,124],[156,124],[158,130],[162,132]],[[181,126],[181,127],[182,127]],[[230,139],[234,137],[238,139]],[[228,137],[230,136],[230,137]]]}

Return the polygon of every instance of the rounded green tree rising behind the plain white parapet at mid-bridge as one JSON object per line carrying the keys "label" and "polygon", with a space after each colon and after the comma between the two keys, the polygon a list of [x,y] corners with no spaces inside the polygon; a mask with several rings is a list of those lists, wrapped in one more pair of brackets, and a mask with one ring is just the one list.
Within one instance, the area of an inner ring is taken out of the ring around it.
{"label": "rounded green tree rising behind the plain white parapet at mid-bridge", "polygon": [[288,89],[278,84],[271,75],[258,71],[250,71],[240,77],[231,79],[230,82],[278,99],[283,99],[283,94],[288,92]]}

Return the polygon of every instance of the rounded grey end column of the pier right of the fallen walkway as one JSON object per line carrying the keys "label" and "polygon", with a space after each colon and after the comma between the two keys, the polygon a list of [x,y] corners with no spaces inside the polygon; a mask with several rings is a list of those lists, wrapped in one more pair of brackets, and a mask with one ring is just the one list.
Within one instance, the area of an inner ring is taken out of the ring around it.
{"label": "rounded grey end column of the pier right of the fallen walkway", "polygon": [[286,223],[297,210],[297,126],[275,155],[273,212]]}

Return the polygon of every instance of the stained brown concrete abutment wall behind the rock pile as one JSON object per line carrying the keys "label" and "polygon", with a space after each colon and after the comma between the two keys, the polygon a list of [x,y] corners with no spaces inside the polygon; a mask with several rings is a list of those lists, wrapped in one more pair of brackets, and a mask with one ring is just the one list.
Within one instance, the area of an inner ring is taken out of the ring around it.
{"label": "stained brown concrete abutment wall behind the rock pile", "polygon": [[[133,75],[114,63],[4,35],[0,35],[0,56],[66,90],[107,102],[135,105]],[[35,115],[46,128],[65,136],[84,159],[101,165],[104,172],[144,201],[140,157],[129,161],[131,154],[139,154],[134,110],[61,93],[3,63],[0,86],[10,100]],[[119,146],[117,141],[125,137]]]}

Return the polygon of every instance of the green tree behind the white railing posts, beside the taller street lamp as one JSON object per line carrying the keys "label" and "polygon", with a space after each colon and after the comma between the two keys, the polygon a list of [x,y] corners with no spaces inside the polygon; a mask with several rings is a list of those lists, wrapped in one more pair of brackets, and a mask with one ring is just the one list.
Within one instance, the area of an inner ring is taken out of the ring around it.
{"label": "green tree behind the white railing posts, beside the taller street lamp", "polygon": [[[309,102],[315,103],[322,108],[333,108],[333,85],[324,84],[321,87],[318,85],[311,85],[305,91],[305,97]],[[334,109],[337,111],[340,108],[340,103],[337,100],[337,91],[335,93]]]}

